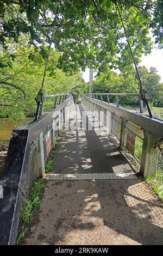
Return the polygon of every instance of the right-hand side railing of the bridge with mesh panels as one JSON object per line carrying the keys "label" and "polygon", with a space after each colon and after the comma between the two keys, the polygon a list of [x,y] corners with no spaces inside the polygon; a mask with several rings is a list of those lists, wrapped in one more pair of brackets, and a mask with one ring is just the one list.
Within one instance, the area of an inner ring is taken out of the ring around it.
{"label": "right-hand side railing of the bridge with mesh panels", "polygon": [[[137,113],[115,103],[103,101],[103,95],[128,94],[86,94],[82,103],[93,112],[99,121],[109,129],[109,135],[116,139],[120,148],[127,151],[139,162],[139,170],[145,177],[163,184],[163,154],[159,148],[163,138],[163,120],[149,118],[148,115]],[[100,95],[100,99],[99,98]],[[129,94],[135,96],[135,94]],[[139,96],[139,94],[136,94]],[[99,112],[104,114],[99,115]],[[106,123],[106,117],[109,123]]]}

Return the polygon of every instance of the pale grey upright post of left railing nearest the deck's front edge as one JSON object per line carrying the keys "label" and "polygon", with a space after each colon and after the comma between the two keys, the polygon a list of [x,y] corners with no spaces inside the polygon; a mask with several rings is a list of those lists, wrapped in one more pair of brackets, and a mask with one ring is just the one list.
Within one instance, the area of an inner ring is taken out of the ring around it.
{"label": "pale grey upright post of left railing nearest the deck's front edge", "polygon": [[43,133],[41,132],[37,138],[37,167],[40,176],[45,174],[44,152],[43,152]]}

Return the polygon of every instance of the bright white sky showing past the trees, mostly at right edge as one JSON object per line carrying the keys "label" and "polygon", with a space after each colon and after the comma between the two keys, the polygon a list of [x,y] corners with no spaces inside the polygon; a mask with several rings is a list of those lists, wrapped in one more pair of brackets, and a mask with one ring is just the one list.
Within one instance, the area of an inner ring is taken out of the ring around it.
{"label": "bright white sky showing past the trees, mostly at right edge", "polygon": [[[161,77],[161,82],[163,82],[163,49],[153,49],[151,54],[147,56],[142,56],[140,66],[146,66],[149,70],[151,66],[154,66]],[[94,76],[96,74],[93,74]],[[83,78],[85,82],[89,82],[89,69],[83,72]]]}

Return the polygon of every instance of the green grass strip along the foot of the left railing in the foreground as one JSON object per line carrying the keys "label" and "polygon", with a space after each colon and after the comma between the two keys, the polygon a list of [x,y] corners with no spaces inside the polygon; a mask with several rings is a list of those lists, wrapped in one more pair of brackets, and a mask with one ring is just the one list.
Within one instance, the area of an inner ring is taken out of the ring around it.
{"label": "green grass strip along the foot of the left railing in the foreground", "polygon": [[28,225],[33,221],[34,215],[39,210],[41,203],[41,192],[43,189],[43,179],[34,182],[30,196],[24,200],[23,210],[21,212],[21,226],[18,229],[16,243],[18,244],[28,230]]}

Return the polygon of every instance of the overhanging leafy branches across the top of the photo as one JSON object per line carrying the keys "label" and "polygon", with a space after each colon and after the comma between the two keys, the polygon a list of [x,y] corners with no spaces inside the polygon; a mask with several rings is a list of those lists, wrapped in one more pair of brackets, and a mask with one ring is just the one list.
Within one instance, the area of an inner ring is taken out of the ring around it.
{"label": "overhanging leafy branches across the top of the photo", "polygon": [[[61,53],[58,66],[73,71],[78,66],[99,72],[130,69],[132,60],[117,6],[127,28],[136,62],[151,51],[149,29],[162,42],[162,4],[153,0],[3,0],[0,1],[1,43],[15,42],[21,33],[41,51],[53,41]],[[158,26],[159,23],[159,26]],[[41,47],[40,47],[41,46]]]}

